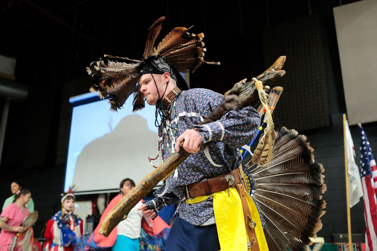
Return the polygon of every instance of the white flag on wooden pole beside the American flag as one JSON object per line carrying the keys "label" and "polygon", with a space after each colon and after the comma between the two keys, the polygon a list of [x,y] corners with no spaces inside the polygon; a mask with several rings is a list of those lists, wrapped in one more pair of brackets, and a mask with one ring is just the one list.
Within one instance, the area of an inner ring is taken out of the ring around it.
{"label": "white flag on wooden pole beside the American flag", "polygon": [[348,162],[348,182],[349,182],[349,207],[356,205],[363,196],[363,188],[361,186],[361,178],[359,167],[355,162],[355,148],[352,142],[351,132],[348,128],[348,121],[345,125],[346,131],[346,149],[347,149],[347,162]]}

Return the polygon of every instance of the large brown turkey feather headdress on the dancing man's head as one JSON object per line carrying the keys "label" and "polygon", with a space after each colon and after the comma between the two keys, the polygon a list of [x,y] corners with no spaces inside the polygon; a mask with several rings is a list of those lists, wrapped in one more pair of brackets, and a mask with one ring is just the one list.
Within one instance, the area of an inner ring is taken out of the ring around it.
{"label": "large brown turkey feather headdress on the dancing man's head", "polygon": [[[91,92],[98,92],[101,99],[109,99],[113,111],[120,109],[128,97],[133,94],[133,111],[145,107],[144,94],[140,91],[138,79],[143,65],[152,61],[163,59],[172,66],[178,82],[184,81],[178,72],[194,72],[205,62],[204,43],[201,42],[204,34],[190,34],[191,28],[177,27],[167,34],[155,47],[156,38],[162,27],[165,17],[160,17],[149,28],[149,35],[145,51],[141,60],[133,60],[127,57],[104,55],[104,59],[92,62],[87,67],[89,75],[96,77],[96,83],[90,88]],[[187,85],[187,84],[186,84]]]}

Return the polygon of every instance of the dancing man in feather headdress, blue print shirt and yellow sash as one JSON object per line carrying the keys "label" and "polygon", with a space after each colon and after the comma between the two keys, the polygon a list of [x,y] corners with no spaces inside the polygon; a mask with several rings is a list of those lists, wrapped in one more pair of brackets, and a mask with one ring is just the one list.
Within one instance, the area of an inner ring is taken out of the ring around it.
{"label": "dancing man in feather headdress, blue print shirt and yellow sash", "polygon": [[[251,106],[228,104],[231,107],[224,108],[228,112],[220,120],[198,125],[224,101],[208,89],[189,89],[179,74],[208,63],[203,60],[204,35],[175,28],[154,48],[163,20],[150,27],[142,60],[106,55],[107,60],[87,68],[99,78],[91,91],[109,99],[113,110],[132,93],[134,111],[144,107],[144,100],[156,105],[157,147],[163,160],[179,151],[182,141],[183,148],[193,153],[139,210],[153,218],[165,205],[180,201],[166,250],[268,250],[264,220],[245,192],[238,169],[242,161],[238,148],[255,137],[261,118]],[[243,211],[251,217],[245,219]]]}

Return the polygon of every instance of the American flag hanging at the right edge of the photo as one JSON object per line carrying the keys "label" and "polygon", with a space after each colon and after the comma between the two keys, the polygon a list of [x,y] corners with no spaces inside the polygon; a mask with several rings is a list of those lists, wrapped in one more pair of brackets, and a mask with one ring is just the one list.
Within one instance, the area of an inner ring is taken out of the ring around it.
{"label": "American flag hanging at the right edge of the photo", "polygon": [[368,138],[362,128],[360,130],[360,168],[361,183],[364,194],[364,213],[366,223],[366,251],[377,251],[377,167],[373,158]]}

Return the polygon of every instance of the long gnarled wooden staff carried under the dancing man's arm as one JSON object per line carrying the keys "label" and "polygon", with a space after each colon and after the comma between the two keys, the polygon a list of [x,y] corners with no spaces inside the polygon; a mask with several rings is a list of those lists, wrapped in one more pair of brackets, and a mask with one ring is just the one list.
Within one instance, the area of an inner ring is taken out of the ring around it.
{"label": "long gnarled wooden staff carried under the dancing man's arm", "polygon": [[[268,68],[257,78],[261,80],[264,85],[270,85],[280,77],[283,77],[285,75],[285,71],[282,71],[281,69],[285,63],[285,59],[285,56],[279,57],[279,59],[277,59],[275,63],[270,66],[270,68]],[[254,83],[254,81],[243,81],[236,83],[225,95],[236,94],[239,96],[241,104],[243,106],[248,106],[255,102],[258,98]],[[146,176],[128,194],[123,196],[120,202],[118,202],[118,204],[116,204],[104,218],[100,228],[100,234],[104,235],[105,237],[109,236],[111,231],[118,225],[118,223],[127,218],[130,210],[141,200],[141,198],[152,191],[158,182],[173,172],[177,166],[179,166],[187,157],[190,156],[190,153],[183,149],[183,142],[181,142],[179,149],[179,152],[174,152],[164,161],[164,163]]]}

